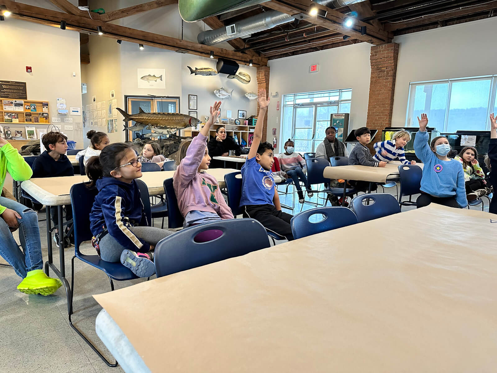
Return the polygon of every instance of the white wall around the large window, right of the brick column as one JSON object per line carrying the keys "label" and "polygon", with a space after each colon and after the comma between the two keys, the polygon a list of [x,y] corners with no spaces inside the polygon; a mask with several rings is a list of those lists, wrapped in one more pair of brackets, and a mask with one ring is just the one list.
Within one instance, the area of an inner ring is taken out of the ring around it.
{"label": "white wall around the large window, right of the brick column", "polygon": [[392,125],[406,124],[409,83],[497,74],[494,18],[398,36]]}

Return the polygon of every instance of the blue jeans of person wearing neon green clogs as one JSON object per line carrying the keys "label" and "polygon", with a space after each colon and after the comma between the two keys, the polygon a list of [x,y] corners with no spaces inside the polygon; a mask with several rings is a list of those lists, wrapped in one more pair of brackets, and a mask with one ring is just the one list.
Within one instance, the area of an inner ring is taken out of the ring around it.
{"label": "blue jeans of person wearing neon green clogs", "polygon": [[0,255],[14,267],[15,273],[24,279],[28,271],[43,269],[38,214],[19,202],[5,197],[0,197],[0,204],[16,211],[22,217],[17,219],[17,222],[24,253],[17,246],[7,223],[0,217]]}

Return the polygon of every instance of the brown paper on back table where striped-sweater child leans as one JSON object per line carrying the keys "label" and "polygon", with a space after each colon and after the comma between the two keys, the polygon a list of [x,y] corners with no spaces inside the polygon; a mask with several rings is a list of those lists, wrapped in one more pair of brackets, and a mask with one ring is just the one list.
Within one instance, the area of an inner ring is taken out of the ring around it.
{"label": "brown paper on back table where striped-sweater child leans", "polygon": [[[344,179],[344,180],[360,180],[372,183],[386,183],[387,178],[399,177],[398,167],[400,162],[394,161],[387,163],[385,167],[370,167],[360,165],[350,166],[335,166],[327,167],[323,171],[323,176],[327,179]],[[423,168],[422,163],[416,163],[416,166]]]}

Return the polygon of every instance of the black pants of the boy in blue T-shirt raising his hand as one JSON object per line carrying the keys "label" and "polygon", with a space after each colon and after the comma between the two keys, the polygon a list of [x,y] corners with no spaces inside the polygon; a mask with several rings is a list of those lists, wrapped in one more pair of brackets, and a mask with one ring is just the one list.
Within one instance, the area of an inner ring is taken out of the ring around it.
{"label": "black pants of the boy in blue T-shirt raising his hand", "polygon": [[293,240],[290,219],[293,217],[283,211],[278,211],[272,204],[254,204],[244,206],[245,218],[257,220],[264,228],[284,236],[288,241]]}

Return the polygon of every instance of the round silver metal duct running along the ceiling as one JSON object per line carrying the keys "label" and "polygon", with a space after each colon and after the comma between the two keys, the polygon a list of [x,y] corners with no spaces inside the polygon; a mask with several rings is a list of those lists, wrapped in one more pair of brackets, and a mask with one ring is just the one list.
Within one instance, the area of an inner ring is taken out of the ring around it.
{"label": "round silver metal duct running along the ceiling", "polygon": [[[341,7],[364,0],[315,0],[316,2],[332,7]],[[268,30],[281,24],[292,22],[295,18],[277,10],[269,10],[235,22],[235,33],[228,35],[227,27],[216,30],[202,31],[197,35],[199,44],[214,45],[223,41],[248,37],[256,32]]]}

